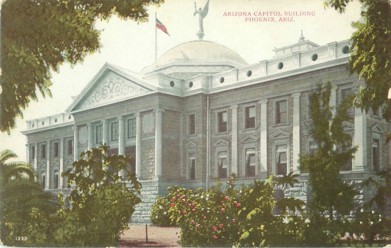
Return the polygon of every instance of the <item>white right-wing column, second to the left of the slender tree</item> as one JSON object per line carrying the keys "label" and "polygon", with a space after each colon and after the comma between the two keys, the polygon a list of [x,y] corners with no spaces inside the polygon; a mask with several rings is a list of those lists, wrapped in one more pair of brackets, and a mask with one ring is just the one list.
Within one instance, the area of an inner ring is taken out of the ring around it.
{"label": "white right-wing column, second to the left of the slender tree", "polygon": [[261,100],[261,173],[267,171],[267,99]]}

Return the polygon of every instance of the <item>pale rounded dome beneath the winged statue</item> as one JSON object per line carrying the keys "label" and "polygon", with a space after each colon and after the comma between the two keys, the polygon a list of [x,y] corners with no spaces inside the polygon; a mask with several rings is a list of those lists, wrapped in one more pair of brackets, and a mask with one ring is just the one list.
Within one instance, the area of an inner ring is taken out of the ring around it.
{"label": "pale rounded dome beneath the winged statue", "polygon": [[[232,49],[212,41],[189,41],[174,46],[155,63],[143,69],[152,72],[169,66],[243,67],[247,62]],[[212,69],[212,68],[210,68]]]}

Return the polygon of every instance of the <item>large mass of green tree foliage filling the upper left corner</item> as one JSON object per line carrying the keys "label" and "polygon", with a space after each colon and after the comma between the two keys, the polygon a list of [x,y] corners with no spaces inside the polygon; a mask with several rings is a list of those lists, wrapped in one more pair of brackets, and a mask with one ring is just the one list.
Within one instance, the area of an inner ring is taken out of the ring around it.
{"label": "large mass of green tree foliage filling the upper left corner", "polygon": [[37,101],[37,90],[51,96],[51,71],[82,62],[96,52],[96,20],[116,14],[125,20],[148,20],[146,6],[164,0],[8,0],[1,6],[2,132],[15,127],[22,109]]}

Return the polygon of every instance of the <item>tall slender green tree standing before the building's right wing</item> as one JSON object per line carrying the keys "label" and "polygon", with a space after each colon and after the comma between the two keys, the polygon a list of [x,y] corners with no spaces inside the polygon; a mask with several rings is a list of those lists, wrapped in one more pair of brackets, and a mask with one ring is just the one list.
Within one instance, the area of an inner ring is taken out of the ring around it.
{"label": "tall slender green tree standing before the building's right wing", "polygon": [[310,208],[327,211],[333,220],[333,211],[344,214],[353,208],[354,190],[340,177],[340,170],[353,158],[357,150],[352,147],[350,135],[344,133],[342,124],[349,120],[347,110],[352,96],[337,108],[333,117],[329,105],[331,84],[322,85],[310,95],[310,134],[318,144],[314,154],[300,154],[299,163],[308,171],[308,183],[312,191]]}

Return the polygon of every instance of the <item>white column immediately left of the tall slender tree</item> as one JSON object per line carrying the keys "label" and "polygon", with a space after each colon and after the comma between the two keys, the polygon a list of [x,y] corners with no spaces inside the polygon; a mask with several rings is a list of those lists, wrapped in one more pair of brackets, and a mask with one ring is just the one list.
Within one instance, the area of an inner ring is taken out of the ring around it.
{"label": "white column immediately left of the tall slender tree", "polygon": [[300,154],[300,93],[292,94],[293,97],[293,172],[299,172]]}

